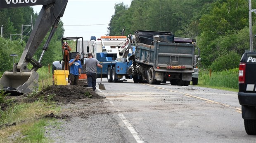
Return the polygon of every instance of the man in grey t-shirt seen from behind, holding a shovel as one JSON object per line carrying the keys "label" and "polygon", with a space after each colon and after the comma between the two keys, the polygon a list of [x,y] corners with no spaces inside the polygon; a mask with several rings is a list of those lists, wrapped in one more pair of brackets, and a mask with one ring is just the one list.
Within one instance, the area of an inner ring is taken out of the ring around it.
{"label": "man in grey t-shirt seen from behind, holding a shovel", "polygon": [[88,59],[85,60],[85,65],[88,87],[92,87],[92,90],[95,91],[97,79],[97,66],[99,68],[102,68],[102,65],[100,65],[100,62],[97,59],[92,58],[92,53],[88,53]]}

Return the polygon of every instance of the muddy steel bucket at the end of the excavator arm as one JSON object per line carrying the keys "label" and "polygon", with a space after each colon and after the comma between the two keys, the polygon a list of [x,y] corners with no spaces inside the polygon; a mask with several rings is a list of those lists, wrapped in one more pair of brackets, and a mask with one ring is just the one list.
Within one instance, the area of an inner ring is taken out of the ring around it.
{"label": "muddy steel bucket at the end of the excavator arm", "polygon": [[0,86],[7,93],[22,95],[23,93],[37,90],[39,74],[33,72],[5,71],[0,79]]}

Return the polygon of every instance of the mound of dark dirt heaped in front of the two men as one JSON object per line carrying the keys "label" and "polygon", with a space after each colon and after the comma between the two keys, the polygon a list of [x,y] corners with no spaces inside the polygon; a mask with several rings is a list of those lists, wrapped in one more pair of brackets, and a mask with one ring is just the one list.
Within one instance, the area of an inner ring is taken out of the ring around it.
{"label": "mound of dark dirt heaped in front of the two men", "polygon": [[[24,96],[26,97],[26,95]],[[92,91],[92,89],[83,86],[51,85],[38,92],[35,96],[26,98],[26,101],[33,102],[38,99],[44,99],[45,101],[73,102],[85,98],[101,99],[105,97],[102,97]]]}

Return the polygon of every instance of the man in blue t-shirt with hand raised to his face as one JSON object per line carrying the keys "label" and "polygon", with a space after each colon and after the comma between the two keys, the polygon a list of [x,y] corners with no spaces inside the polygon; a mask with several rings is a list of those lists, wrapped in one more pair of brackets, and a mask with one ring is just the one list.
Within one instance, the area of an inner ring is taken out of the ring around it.
{"label": "man in blue t-shirt with hand raised to his face", "polygon": [[70,79],[70,85],[78,85],[78,78],[81,76],[81,61],[79,60],[80,54],[76,54],[76,58],[71,59],[69,61],[69,67],[70,67],[70,74],[69,74],[69,79]]}

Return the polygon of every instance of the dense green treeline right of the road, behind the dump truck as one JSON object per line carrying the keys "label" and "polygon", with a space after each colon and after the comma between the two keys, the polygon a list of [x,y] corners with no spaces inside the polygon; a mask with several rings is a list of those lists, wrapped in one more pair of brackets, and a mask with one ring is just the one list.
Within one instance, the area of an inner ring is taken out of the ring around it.
{"label": "dense green treeline right of the road, behind the dump truck", "polygon": [[[252,9],[256,1],[252,0]],[[252,13],[256,34],[256,14]],[[197,39],[201,67],[222,71],[238,67],[249,47],[248,0],[132,0],[115,5],[109,35],[135,30],[171,31],[175,37]],[[254,39],[253,48],[256,48]]]}

